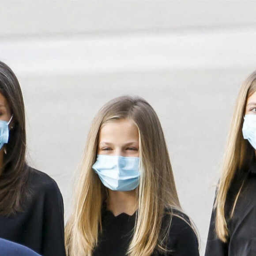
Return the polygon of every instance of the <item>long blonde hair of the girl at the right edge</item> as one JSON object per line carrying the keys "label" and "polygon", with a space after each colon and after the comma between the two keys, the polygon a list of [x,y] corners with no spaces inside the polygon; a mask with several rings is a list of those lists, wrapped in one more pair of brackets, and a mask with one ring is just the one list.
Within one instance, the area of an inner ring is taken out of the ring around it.
{"label": "long blonde hair of the girl at the right edge", "polygon": [[252,161],[254,149],[243,138],[242,126],[245,115],[245,107],[248,97],[250,97],[256,91],[256,71],[253,72],[245,82],[242,84],[240,92],[237,97],[233,118],[231,121],[230,131],[228,135],[228,141],[226,145],[226,151],[224,154],[224,163],[222,167],[222,175],[218,185],[218,191],[215,201],[216,208],[216,233],[222,241],[226,242],[228,237],[228,228],[225,216],[229,215],[232,218],[234,208],[241,192],[239,189],[233,203],[230,213],[225,212],[225,204],[227,193],[230,188],[230,184],[235,177],[235,174],[240,169],[248,168],[248,165]]}

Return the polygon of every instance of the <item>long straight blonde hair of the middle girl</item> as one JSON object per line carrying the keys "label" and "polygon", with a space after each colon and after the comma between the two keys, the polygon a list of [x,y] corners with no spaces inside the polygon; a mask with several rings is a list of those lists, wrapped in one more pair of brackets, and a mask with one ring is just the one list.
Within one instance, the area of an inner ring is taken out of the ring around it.
{"label": "long straight blonde hair of the middle girl", "polygon": [[95,116],[87,138],[75,192],[75,209],[66,226],[68,256],[91,256],[102,231],[102,203],[106,189],[92,165],[99,131],[111,119],[129,118],[139,130],[139,157],[143,166],[137,188],[137,215],[129,256],[149,256],[165,250],[160,228],[165,209],[181,210],[162,127],[154,109],[143,98],[123,96],[105,104]]}

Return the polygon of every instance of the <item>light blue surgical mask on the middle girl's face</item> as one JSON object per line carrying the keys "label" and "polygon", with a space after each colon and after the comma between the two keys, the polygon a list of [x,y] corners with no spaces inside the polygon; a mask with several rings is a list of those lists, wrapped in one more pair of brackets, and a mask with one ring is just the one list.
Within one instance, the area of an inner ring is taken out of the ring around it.
{"label": "light blue surgical mask on the middle girl's face", "polygon": [[111,190],[130,191],[139,185],[139,158],[97,155],[92,166],[103,185]]}

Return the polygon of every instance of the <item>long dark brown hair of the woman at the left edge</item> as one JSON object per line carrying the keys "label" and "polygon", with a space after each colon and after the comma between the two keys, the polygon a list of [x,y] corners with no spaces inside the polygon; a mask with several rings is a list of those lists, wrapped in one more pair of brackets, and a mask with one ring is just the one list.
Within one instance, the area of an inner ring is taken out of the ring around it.
{"label": "long dark brown hair of the woman at the left edge", "polygon": [[6,154],[0,175],[0,215],[13,215],[23,210],[30,195],[28,179],[30,168],[26,165],[25,110],[19,82],[6,64],[0,61],[0,93],[11,109],[12,126],[9,141],[4,145]]}

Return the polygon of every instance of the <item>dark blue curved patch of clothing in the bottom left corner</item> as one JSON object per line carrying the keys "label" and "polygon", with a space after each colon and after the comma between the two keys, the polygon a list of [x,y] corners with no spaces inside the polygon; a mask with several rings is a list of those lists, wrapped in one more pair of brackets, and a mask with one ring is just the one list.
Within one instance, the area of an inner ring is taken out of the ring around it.
{"label": "dark blue curved patch of clothing in the bottom left corner", "polygon": [[0,256],[40,256],[29,248],[0,238]]}

